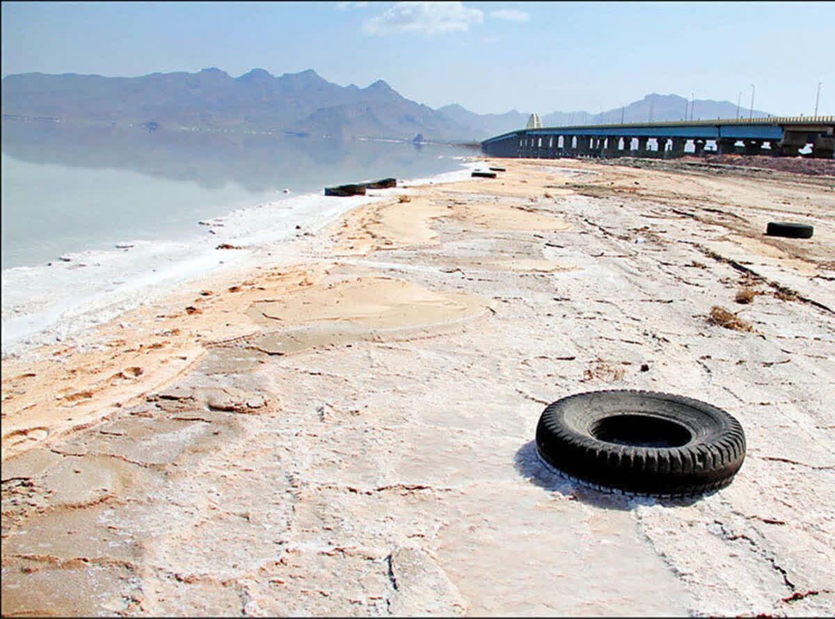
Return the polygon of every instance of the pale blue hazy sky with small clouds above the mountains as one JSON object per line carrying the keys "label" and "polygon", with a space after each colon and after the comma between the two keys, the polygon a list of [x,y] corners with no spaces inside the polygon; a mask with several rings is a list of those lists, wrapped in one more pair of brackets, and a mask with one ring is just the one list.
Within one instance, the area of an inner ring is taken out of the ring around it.
{"label": "pale blue hazy sky with small clouds above the mountains", "polygon": [[313,68],[438,108],[549,113],[676,93],[835,113],[835,3],[2,3],[2,72]]}

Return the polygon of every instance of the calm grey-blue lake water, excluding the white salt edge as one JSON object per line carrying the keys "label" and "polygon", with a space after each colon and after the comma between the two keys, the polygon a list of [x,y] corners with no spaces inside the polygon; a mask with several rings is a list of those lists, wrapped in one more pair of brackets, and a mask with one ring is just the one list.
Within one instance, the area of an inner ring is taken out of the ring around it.
{"label": "calm grey-blue lake water, excluding the white salt edge", "polygon": [[134,239],[205,234],[200,219],[327,184],[458,168],[468,148],[353,139],[3,123],[2,266]]}

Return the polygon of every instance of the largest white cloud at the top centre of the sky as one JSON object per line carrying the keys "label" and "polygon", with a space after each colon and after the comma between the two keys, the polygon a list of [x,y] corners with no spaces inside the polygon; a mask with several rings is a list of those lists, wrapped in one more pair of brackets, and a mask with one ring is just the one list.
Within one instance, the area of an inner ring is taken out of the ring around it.
{"label": "largest white cloud at the top centre of the sky", "polygon": [[484,13],[463,3],[396,3],[392,8],[362,24],[367,34],[453,33],[467,31],[471,23],[482,23]]}

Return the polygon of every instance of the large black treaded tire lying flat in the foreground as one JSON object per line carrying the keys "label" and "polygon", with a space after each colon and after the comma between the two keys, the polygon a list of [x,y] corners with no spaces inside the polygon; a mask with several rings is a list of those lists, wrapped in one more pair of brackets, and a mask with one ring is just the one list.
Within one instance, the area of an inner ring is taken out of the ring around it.
{"label": "large black treaded tire lying flat in the foreground", "polygon": [[593,391],[557,400],[539,418],[536,445],[569,476],[661,496],[723,488],[745,459],[745,433],[731,415],[653,391]]}

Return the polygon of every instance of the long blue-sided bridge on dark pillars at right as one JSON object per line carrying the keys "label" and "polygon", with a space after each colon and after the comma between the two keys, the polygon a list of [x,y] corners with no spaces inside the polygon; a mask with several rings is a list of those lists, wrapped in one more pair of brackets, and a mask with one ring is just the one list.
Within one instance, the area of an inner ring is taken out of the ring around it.
{"label": "long blue-sided bridge on dark pillars at right", "polygon": [[686,152],[795,156],[812,145],[812,157],[832,159],[835,116],[786,116],[670,123],[596,124],[525,128],[481,143],[495,157],[681,157]]}

